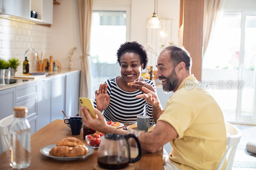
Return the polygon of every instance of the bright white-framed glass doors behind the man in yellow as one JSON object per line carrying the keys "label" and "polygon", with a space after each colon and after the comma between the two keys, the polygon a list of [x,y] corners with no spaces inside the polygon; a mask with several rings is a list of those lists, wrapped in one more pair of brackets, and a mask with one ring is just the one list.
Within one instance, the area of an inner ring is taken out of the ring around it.
{"label": "bright white-framed glass doors behind the man in yellow", "polygon": [[256,124],[256,11],[221,13],[203,56],[202,83],[225,121]]}

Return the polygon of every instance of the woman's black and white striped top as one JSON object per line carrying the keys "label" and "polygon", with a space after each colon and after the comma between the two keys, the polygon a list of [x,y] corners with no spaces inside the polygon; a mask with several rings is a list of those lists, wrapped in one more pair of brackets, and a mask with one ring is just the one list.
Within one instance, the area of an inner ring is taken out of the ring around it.
{"label": "woman's black and white striped top", "polygon": [[[143,78],[142,78],[143,79]],[[156,85],[153,81],[143,79],[143,81],[152,85],[156,92]],[[103,111],[103,116],[107,121],[121,123],[135,123],[138,115],[148,115],[152,117],[153,106],[149,105],[145,99],[136,99],[135,96],[143,94],[140,90],[135,92],[126,92],[122,90],[116,83],[116,78],[110,78],[105,82],[108,85],[107,94],[110,96],[110,103]],[[97,107],[96,102],[93,102]]]}

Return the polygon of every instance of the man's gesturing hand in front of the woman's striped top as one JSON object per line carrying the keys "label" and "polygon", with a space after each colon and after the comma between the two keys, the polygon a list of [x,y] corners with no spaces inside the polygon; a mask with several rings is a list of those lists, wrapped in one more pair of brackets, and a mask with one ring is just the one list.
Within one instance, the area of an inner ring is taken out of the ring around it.
{"label": "man's gesturing hand in front of the woman's striped top", "polygon": [[146,87],[142,87],[142,90],[145,92],[144,94],[139,94],[135,98],[144,98],[148,104],[152,106],[158,106],[160,104],[160,101],[156,95],[155,92],[152,92],[151,90],[148,90]]}

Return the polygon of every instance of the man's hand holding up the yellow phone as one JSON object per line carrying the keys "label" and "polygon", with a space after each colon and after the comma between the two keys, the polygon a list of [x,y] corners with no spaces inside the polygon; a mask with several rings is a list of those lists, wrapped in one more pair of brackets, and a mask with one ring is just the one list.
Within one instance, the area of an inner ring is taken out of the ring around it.
{"label": "man's hand holding up the yellow phone", "polygon": [[101,115],[101,112],[97,108],[94,109],[94,113],[96,114],[95,119],[92,118],[86,107],[83,106],[81,108],[81,115],[86,126],[93,130],[103,132],[104,128],[108,128],[108,125],[105,123],[103,115]]}

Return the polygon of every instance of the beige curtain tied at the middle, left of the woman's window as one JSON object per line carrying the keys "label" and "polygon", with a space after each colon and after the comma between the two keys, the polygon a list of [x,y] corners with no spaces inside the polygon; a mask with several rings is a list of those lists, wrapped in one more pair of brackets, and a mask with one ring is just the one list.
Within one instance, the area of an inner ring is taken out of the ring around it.
{"label": "beige curtain tied at the middle, left of the woman's window", "polygon": [[[79,12],[79,32],[82,49],[81,58],[81,78],[80,78],[80,96],[91,97],[91,67],[89,60],[89,44],[91,34],[92,1],[78,0]],[[79,114],[80,111],[79,111]]]}

